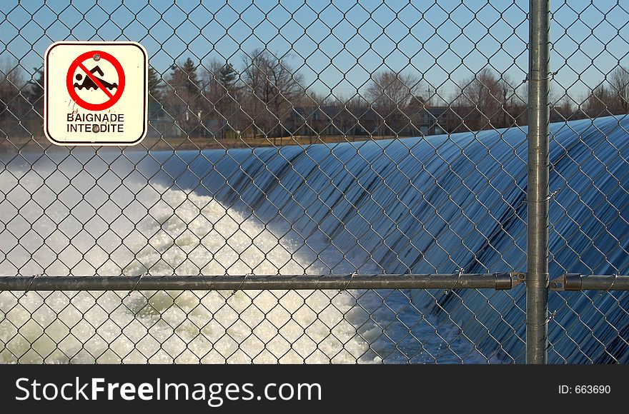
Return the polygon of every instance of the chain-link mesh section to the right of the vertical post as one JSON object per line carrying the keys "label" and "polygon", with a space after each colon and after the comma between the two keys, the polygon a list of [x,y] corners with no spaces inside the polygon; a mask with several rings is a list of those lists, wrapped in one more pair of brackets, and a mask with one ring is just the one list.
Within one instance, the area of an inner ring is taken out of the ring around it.
{"label": "chain-link mesh section to the right of the vertical post", "polygon": [[[626,275],[629,4],[553,8],[550,273]],[[549,360],[627,363],[626,292],[550,292]]]}

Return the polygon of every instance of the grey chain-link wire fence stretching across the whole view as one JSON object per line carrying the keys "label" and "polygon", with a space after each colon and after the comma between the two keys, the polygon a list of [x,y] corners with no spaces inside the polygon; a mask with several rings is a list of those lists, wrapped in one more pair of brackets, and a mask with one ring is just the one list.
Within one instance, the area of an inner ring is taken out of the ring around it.
{"label": "grey chain-link wire fence stretching across the whole view", "polygon": [[[629,273],[629,4],[551,6],[548,361],[624,363],[623,276],[581,275]],[[0,361],[525,362],[529,24],[518,0],[3,2]],[[142,143],[46,141],[64,39],[147,49]]]}

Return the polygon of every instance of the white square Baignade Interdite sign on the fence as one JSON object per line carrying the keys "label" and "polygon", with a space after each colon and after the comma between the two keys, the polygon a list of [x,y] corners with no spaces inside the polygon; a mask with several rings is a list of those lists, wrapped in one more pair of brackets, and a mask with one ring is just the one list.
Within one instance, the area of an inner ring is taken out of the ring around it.
{"label": "white square Baignade Interdite sign on the fence", "polygon": [[148,54],[132,41],[59,41],[44,55],[44,134],[56,145],[135,145],[147,134]]}

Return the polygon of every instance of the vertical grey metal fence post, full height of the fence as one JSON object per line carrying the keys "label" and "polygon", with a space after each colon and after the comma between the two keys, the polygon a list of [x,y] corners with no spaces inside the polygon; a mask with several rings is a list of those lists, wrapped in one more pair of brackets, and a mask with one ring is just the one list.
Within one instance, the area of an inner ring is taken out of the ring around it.
{"label": "vertical grey metal fence post, full height of the fence", "polygon": [[526,362],[546,363],[548,341],[548,123],[550,0],[530,0]]}

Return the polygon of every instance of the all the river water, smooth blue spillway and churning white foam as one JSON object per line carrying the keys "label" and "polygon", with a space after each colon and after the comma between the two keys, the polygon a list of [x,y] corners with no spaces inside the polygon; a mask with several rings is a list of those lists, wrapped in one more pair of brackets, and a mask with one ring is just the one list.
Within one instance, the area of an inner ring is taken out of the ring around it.
{"label": "all the river water, smooth blue spillway and churning white foam", "polygon": [[[629,271],[628,127],[551,127],[551,277]],[[525,134],[4,156],[0,273],[524,271]],[[522,362],[523,293],[4,292],[0,357]],[[550,360],[628,362],[627,297],[551,293]]]}

